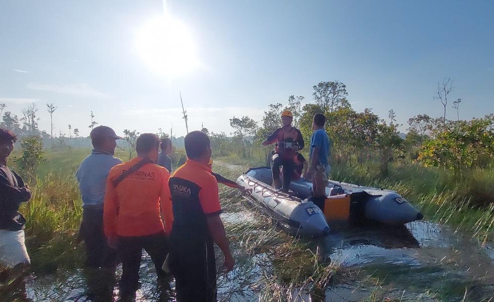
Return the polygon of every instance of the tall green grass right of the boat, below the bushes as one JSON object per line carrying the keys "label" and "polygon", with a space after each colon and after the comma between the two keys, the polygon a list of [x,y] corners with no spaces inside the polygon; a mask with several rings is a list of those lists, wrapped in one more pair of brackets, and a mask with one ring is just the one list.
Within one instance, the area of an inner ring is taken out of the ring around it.
{"label": "tall green grass right of the boat, below the bushes", "polygon": [[494,171],[472,169],[456,180],[450,171],[394,164],[383,178],[372,163],[332,167],[331,178],[398,191],[425,219],[471,233],[480,243],[494,239]]}

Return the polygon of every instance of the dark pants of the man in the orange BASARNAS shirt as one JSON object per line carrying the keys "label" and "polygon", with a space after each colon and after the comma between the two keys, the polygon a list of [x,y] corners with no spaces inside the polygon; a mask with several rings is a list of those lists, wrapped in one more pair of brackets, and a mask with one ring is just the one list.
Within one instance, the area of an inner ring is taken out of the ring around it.
{"label": "dark pants of the man in the orange BASARNAS shirt", "polygon": [[122,295],[132,294],[139,288],[142,249],[151,256],[158,277],[165,275],[161,269],[168,254],[168,242],[164,231],[147,236],[120,236],[118,237],[118,252],[122,261],[122,278],[120,280]]}

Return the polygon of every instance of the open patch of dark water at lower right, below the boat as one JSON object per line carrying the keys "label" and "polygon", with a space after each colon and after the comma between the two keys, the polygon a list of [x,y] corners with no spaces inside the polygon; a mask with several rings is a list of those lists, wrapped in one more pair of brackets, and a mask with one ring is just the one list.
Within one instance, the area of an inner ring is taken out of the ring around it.
{"label": "open patch of dark water at lower right, below the boat", "polygon": [[[420,221],[402,227],[343,223],[331,229],[320,247],[332,261],[360,276],[348,282],[346,290],[361,287],[361,278],[366,277],[379,280],[379,288],[389,291],[384,295],[395,298],[488,301],[494,297],[492,250],[447,227]],[[361,298],[361,291],[342,293],[340,287],[328,288],[326,301]]]}

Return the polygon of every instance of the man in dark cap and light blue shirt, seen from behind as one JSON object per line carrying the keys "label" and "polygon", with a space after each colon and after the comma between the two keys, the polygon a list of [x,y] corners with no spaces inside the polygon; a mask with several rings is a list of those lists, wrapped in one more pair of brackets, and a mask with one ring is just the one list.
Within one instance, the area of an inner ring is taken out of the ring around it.
{"label": "man in dark cap and light blue shirt, seen from behind", "polygon": [[95,127],[90,136],[93,150],[76,173],[83,207],[79,238],[85,241],[87,267],[111,267],[116,251],[108,246],[103,232],[103,201],[108,172],[122,163],[113,154],[116,140],[123,137],[107,126]]}

